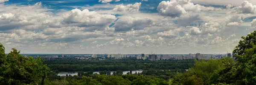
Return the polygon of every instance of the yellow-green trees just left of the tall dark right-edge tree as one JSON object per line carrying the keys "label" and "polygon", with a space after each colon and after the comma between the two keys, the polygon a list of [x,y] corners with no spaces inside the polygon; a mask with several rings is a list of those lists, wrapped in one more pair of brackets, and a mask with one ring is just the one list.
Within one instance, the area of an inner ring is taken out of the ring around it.
{"label": "yellow-green trees just left of the tall dark right-edge tree", "polygon": [[234,63],[231,58],[195,60],[195,66],[185,73],[177,73],[172,79],[173,85],[211,85],[218,82],[219,71],[224,68],[224,61]]}

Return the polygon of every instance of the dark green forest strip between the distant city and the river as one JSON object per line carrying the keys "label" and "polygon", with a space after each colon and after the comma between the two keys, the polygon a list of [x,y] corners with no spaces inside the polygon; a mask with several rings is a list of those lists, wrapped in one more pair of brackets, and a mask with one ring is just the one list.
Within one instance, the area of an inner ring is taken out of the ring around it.
{"label": "dark green forest strip between the distant city and the river", "polygon": [[47,59],[44,62],[51,70],[74,72],[74,71],[130,71],[130,70],[170,70],[188,69],[193,66],[194,60],[79,60],[79,59]]}

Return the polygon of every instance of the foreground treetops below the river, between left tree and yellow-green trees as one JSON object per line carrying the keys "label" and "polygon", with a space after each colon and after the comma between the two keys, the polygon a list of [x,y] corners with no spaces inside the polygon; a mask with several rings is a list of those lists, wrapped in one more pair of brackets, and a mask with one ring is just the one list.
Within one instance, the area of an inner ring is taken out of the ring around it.
{"label": "foreground treetops below the river, between left tree and yellow-green trees", "polygon": [[[82,72],[82,71],[79,71]],[[54,72],[52,72],[54,73]],[[84,73],[84,72],[83,72]],[[88,73],[88,72],[85,72]],[[89,72],[90,73],[90,72]],[[52,75],[52,76],[49,76]],[[143,75],[106,75],[88,74],[87,76],[59,77],[57,74],[49,74],[47,85],[168,85],[169,83],[160,78],[149,78]]]}

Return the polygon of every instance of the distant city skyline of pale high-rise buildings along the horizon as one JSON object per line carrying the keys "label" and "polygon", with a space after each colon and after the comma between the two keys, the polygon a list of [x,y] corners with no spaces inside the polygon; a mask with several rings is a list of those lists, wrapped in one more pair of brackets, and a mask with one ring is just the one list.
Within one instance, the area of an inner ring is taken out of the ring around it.
{"label": "distant city skyline of pale high-rise buildings along the horizon", "polygon": [[33,58],[68,58],[68,59],[82,59],[82,60],[91,60],[91,59],[143,59],[143,60],[184,60],[184,59],[221,59],[224,57],[234,58],[234,53],[227,54],[22,54],[24,57],[33,57]]}

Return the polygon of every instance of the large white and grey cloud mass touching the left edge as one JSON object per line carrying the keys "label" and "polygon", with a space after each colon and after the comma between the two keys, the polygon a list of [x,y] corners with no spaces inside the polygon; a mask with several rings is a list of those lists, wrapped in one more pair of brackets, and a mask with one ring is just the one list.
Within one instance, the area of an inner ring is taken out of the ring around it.
{"label": "large white and grey cloud mass touching the left edge", "polygon": [[[6,7],[6,8],[5,8]],[[40,29],[40,22],[43,18],[49,18],[47,9],[37,4],[27,7],[3,6],[0,11],[8,11],[0,14],[0,31],[24,28],[27,30]],[[26,9],[26,10],[24,10]],[[38,10],[40,9],[40,10]],[[39,24],[39,25],[38,25]]]}

